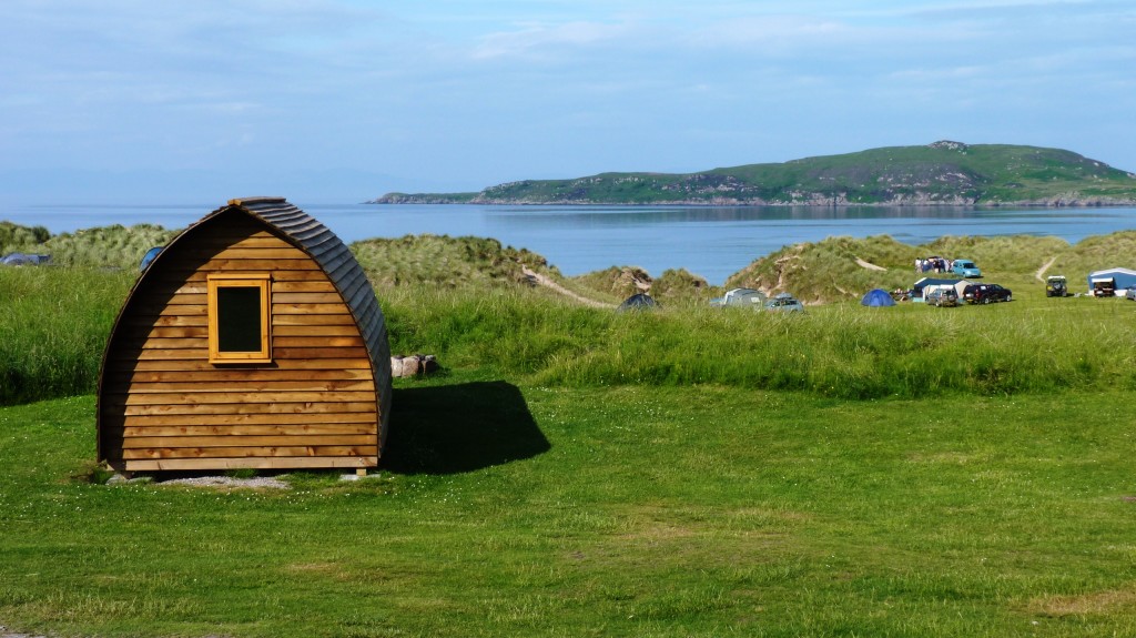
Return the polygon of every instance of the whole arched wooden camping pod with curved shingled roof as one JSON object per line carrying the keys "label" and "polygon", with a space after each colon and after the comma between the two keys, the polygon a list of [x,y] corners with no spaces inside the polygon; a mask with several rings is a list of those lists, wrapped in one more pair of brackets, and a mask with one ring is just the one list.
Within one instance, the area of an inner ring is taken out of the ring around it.
{"label": "whole arched wooden camping pod with curved shingled roof", "polygon": [[383,312],[348,246],[281,198],[232,200],[131,289],[98,455],[123,471],[371,468],[390,406]]}

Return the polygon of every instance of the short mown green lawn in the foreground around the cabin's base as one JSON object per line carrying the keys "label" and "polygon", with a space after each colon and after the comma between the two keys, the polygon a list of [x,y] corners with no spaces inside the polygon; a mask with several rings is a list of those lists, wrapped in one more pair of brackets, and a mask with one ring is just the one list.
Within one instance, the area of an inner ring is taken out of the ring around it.
{"label": "short mown green lawn in the foreground around the cabin's base", "polygon": [[0,409],[0,623],[64,636],[1131,636],[1133,393],[400,383],[387,467],[87,482]]}

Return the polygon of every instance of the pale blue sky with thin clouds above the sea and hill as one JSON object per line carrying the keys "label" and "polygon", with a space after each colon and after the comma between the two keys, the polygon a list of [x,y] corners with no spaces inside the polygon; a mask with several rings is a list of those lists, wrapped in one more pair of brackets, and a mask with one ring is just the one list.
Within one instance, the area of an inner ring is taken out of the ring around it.
{"label": "pale blue sky with thin clouds above the sea and hill", "polygon": [[1131,0],[3,0],[0,201],[351,203],[928,144],[1136,171]]}

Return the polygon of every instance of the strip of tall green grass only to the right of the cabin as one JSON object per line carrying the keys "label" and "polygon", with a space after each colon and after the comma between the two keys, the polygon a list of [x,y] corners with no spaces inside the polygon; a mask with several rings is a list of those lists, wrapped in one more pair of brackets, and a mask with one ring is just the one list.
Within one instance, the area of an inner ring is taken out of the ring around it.
{"label": "strip of tall green grass only to the right of the cabin", "polygon": [[[559,386],[719,384],[842,398],[1134,386],[1122,300],[616,313],[509,291],[387,297],[392,347]],[[1066,303],[1068,302],[1068,303]],[[1063,305],[1058,305],[1062,304]]]}

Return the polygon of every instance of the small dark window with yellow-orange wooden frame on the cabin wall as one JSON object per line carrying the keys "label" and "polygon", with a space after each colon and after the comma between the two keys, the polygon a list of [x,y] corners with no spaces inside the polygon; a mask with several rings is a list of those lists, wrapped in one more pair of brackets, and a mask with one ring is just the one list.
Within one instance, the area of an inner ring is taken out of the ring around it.
{"label": "small dark window with yellow-orange wooden frame on the cabin wall", "polygon": [[214,274],[209,282],[209,361],[272,362],[272,278]]}

